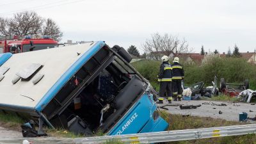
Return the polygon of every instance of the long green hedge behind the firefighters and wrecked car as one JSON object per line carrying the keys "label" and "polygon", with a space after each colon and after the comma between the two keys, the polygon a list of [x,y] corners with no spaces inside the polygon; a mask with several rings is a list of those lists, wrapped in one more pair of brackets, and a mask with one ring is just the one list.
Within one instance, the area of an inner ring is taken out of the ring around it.
{"label": "long green hedge behind the firefighters and wrecked car", "polygon": [[[158,89],[157,74],[161,61],[143,60],[132,65]],[[218,85],[221,77],[226,83],[244,83],[245,79],[249,79],[250,89],[256,89],[256,65],[247,63],[243,58],[210,57],[202,65],[184,64],[184,71],[187,86],[200,81],[212,85],[214,76],[217,76]]]}

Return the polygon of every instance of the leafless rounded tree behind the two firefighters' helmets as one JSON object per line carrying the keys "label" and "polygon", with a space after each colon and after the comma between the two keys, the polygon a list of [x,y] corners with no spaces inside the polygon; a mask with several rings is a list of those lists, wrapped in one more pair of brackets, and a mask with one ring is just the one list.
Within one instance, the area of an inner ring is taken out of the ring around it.
{"label": "leafless rounded tree behind the two firefighters' helmets", "polygon": [[168,35],[167,33],[163,36],[159,33],[152,34],[151,38],[146,40],[142,46],[147,55],[154,60],[159,60],[163,55],[170,56],[173,53],[174,56],[179,56],[181,53],[193,51],[188,48],[188,42],[185,38],[179,40],[178,36]]}

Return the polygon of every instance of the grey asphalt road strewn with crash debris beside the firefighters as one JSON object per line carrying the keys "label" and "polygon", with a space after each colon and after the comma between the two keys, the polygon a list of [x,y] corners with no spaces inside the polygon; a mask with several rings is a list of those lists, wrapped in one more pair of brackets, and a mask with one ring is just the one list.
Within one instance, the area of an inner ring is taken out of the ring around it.
{"label": "grey asphalt road strewn with crash debris beside the firefighters", "polygon": [[[167,102],[164,102],[167,104]],[[159,104],[163,106],[164,104]],[[228,103],[228,102],[215,102],[206,100],[182,100],[175,101],[173,104],[183,104],[183,105],[198,105],[200,107],[196,109],[180,109],[179,106],[166,106],[168,108],[168,113],[180,114],[180,115],[192,115],[192,116],[206,116],[212,118],[221,118],[230,121],[239,121],[239,113],[246,112],[248,117],[253,118],[256,115],[256,105],[249,103]],[[227,106],[217,106],[217,104],[227,104]],[[219,111],[222,114],[219,114]],[[251,123],[254,121],[250,120]]]}

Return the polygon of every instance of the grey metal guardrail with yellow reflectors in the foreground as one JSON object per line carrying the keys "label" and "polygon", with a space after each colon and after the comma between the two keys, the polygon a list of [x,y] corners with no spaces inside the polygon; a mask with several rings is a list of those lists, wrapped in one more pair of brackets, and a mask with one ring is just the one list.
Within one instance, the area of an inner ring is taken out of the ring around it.
{"label": "grey metal guardrail with yellow reflectors in the foreground", "polygon": [[124,143],[160,143],[168,141],[197,140],[222,136],[238,136],[255,134],[256,124],[233,125],[227,127],[210,127],[204,129],[186,129],[179,131],[148,132],[140,134],[124,134],[119,136],[96,136],[76,138],[75,143],[106,143],[106,141],[122,141]]}

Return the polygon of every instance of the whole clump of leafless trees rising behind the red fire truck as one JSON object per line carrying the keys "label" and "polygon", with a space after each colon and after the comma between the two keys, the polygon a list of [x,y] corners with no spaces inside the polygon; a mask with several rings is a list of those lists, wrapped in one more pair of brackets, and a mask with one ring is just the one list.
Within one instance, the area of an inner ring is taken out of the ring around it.
{"label": "whole clump of leafless trees rising behind the red fire truck", "polygon": [[36,12],[15,13],[13,18],[0,17],[0,36],[51,35],[60,40],[63,33],[52,19],[43,19]]}

